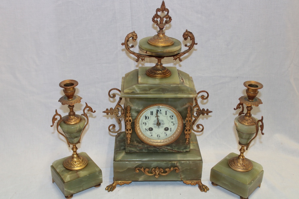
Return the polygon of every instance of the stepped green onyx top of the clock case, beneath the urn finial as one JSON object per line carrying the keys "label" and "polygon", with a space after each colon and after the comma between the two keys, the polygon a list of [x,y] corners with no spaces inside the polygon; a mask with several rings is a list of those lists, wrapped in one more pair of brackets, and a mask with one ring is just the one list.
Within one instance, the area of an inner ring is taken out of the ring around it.
{"label": "stepped green onyx top of the clock case, beneath the urn finial", "polygon": [[120,96],[123,98],[194,98],[197,97],[192,77],[177,70],[171,71],[170,77],[147,77],[145,71],[150,67],[139,67],[122,78]]}

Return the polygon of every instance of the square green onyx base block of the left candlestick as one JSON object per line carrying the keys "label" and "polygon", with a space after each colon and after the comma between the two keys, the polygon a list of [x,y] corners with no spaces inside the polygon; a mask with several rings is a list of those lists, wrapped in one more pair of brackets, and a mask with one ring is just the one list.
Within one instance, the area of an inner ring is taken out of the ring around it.
{"label": "square green onyx base block of the left candlestick", "polygon": [[97,186],[103,182],[102,170],[85,153],[78,153],[88,160],[87,166],[79,171],[65,169],[63,161],[65,158],[54,161],[51,165],[52,182],[56,183],[65,196]]}

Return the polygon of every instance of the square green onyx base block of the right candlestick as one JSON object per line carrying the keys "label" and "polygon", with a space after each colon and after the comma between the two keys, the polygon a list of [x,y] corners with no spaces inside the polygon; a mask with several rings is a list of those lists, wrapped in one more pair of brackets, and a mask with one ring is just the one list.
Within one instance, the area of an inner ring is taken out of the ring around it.
{"label": "square green onyx base block of the right candlestick", "polygon": [[228,165],[228,160],[236,156],[238,156],[238,154],[230,153],[217,163],[211,169],[210,181],[243,198],[248,198],[262,183],[264,170],[262,165],[251,161],[253,163],[253,169],[251,171],[234,171]]}

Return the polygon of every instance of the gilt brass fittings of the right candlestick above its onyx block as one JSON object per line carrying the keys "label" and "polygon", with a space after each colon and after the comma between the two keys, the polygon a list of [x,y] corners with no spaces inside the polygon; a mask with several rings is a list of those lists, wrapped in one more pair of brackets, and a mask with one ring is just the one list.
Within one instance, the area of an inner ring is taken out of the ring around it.
{"label": "gilt brass fittings of the right candlestick above its onyx block", "polygon": [[[257,137],[257,133],[259,132],[259,127],[261,129],[261,133],[262,135],[264,135],[263,133],[263,129],[264,129],[264,123],[263,123],[263,116],[260,120],[257,120],[255,118],[252,117],[251,115],[251,110],[253,109],[252,106],[259,106],[259,104],[263,104],[263,102],[257,98],[257,94],[258,94],[258,89],[263,88],[263,84],[257,82],[257,81],[245,81],[244,82],[244,86],[247,88],[246,89],[246,94],[247,96],[242,96],[239,98],[240,103],[237,105],[236,108],[234,108],[234,110],[237,110],[239,108],[242,107],[242,110],[239,112],[239,118],[238,118],[238,122],[240,123],[240,125],[245,125],[245,126],[255,126],[255,136],[254,138],[249,138],[248,139],[248,144],[242,144],[240,142],[240,134],[247,134],[248,132],[241,132],[239,131],[238,137],[239,137],[239,145],[241,146],[240,149],[240,155],[237,157],[233,157],[228,161],[228,165],[231,167],[231,169],[238,171],[238,172],[248,172],[253,168],[253,164],[252,162],[248,159],[245,158],[244,156],[244,152],[245,152],[245,147],[246,150],[248,150],[248,147],[251,143],[251,141],[253,141],[256,137]],[[244,114],[244,105],[246,105],[246,109],[247,112]],[[261,123],[261,124],[260,124]],[[259,126],[260,124],[260,126]],[[239,127],[238,127],[239,128]],[[237,125],[236,125],[236,129],[237,129]],[[240,129],[239,129],[240,130]],[[237,129],[238,131],[238,129]],[[245,138],[243,138],[245,139]]]}

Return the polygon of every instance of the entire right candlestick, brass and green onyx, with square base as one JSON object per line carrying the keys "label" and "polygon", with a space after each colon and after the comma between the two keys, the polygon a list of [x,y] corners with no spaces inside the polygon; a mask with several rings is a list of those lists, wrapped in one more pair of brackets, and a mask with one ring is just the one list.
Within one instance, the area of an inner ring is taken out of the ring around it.
{"label": "entire right candlestick, brass and green onyx, with square base", "polygon": [[[222,186],[239,195],[241,199],[248,198],[257,186],[260,187],[264,173],[260,164],[244,156],[244,152],[248,150],[251,142],[257,137],[259,128],[262,135],[264,135],[263,116],[258,120],[251,115],[252,106],[257,107],[263,104],[260,98],[256,97],[258,90],[263,88],[263,84],[257,81],[245,81],[244,86],[247,88],[247,95],[240,97],[239,104],[234,108],[234,110],[237,110],[242,107],[239,115],[234,120],[239,145],[241,146],[240,155],[236,156],[237,154],[230,153],[211,169],[210,174],[210,181],[213,186]],[[244,113],[244,104],[247,109],[246,113]]]}

